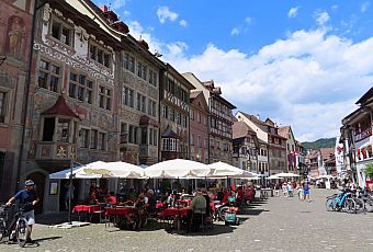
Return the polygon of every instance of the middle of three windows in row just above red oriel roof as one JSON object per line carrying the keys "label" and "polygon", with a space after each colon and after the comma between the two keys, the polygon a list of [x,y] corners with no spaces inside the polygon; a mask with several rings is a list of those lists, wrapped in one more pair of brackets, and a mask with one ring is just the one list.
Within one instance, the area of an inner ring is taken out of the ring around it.
{"label": "middle of three windows in row just above red oriel roof", "polygon": [[93,81],[83,75],[70,72],[69,96],[92,104]]}

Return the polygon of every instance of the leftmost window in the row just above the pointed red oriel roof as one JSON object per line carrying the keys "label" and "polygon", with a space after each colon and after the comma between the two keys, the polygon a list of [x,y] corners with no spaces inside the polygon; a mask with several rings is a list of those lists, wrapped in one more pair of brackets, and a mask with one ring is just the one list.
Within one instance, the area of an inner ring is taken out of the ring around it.
{"label": "leftmost window in the row just above the pointed red oriel roof", "polygon": [[37,82],[39,88],[58,92],[59,79],[60,68],[58,66],[43,59],[38,62]]}

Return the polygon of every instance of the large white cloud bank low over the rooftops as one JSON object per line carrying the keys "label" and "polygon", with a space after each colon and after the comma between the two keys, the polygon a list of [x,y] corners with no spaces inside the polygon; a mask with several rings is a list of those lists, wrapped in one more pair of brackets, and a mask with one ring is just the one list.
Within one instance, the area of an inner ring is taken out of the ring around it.
{"label": "large white cloud bank low over the rooftops", "polygon": [[341,119],[372,87],[372,50],[373,37],[354,44],[320,28],[296,31],[255,55],[210,44],[201,55],[165,58],[181,72],[214,79],[239,110],[292,125],[299,140],[315,140],[338,135]]}

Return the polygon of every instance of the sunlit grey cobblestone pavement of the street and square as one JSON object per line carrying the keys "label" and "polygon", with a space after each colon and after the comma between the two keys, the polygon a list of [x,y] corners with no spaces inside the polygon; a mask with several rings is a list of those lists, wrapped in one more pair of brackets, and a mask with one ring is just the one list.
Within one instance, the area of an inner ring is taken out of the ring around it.
{"label": "sunlit grey cobblestone pavement of the street and square", "polygon": [[312,202],[271,197],[241,215],[239,226],[215,225],[205,233],[168,233],[165,229],[120,231],[104,225],[69,230],[38,225],[38,247],[0,244],[0,251],[373,251],[373,213],[325,210],[332,191],[313,190]]}

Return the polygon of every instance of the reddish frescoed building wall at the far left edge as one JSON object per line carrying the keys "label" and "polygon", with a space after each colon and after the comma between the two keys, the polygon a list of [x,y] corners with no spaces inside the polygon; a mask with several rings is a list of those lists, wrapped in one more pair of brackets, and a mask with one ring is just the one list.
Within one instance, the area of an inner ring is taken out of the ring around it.
{"label": "reddish frescoed building wall at the far left edge", "polygon": [[[34,1],[0,1],[0,202],[16,190]],[[5,57],[5,59],[4,59]]]}

